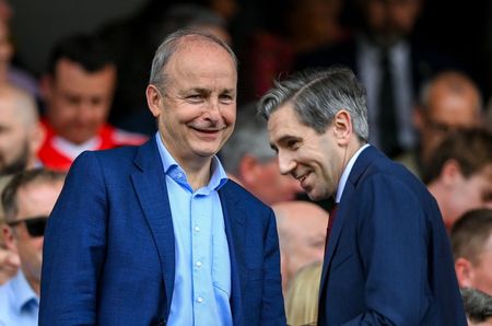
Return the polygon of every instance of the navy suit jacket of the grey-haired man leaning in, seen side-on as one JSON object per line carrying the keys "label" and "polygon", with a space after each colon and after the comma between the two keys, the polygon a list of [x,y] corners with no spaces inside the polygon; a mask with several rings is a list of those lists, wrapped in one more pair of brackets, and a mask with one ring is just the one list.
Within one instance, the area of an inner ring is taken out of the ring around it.
{"label": "navy suit jacket of the grey-haired man leaning in, seen side-on", "polygon": [[328,240],[319,325],[467,325],[434,198],[374,147],[349,175]]}

